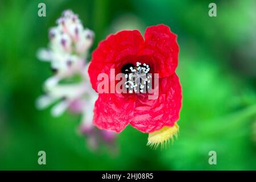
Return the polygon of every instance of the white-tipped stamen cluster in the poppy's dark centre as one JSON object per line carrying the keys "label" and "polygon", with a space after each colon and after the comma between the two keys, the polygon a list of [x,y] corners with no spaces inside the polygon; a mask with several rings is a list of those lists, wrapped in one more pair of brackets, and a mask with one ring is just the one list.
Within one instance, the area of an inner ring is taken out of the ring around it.
{"label": "white-tipped stamen cluster in the poppy's dark centre", "polygon": [[[143,65],[141,67],[141,65]],[[126,69],[126,71],[128,71]],[[130,67],[131,73],[125,74],[128,81],[125,82],[125,87],[129,89],[129,93],[146,93],[146,88],[149,88],[147,83],[150,83],[150,76],[147,73],[150,71],[150,67],[144,63],[136,63],[136,67]],[[139,92],[138,92],[139,90]]]}

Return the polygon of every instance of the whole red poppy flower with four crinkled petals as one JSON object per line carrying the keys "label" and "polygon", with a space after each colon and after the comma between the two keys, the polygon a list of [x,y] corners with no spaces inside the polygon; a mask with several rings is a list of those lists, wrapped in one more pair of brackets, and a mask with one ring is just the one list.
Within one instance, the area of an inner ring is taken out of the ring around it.
{"label": "whole red poppy flower with four crinkled petals", "polygon": [[125,30],[98,45],[88,70],[96,92],[100,73],[110,75],[112,68],[115,74],[123,73],[138,68],[139,62],[150,68],[149,73],[159,73],[159,97],[149,100],[149,93],[100,93],[94,106],[94,125],[119,133],[130,123],[151,137],[168,129],[169,138],[176,133],[181,108],[181,86],[175,73],[179,53],[176,38],[168,26],[160,24],[148,27],[144,39],[138,30]]}

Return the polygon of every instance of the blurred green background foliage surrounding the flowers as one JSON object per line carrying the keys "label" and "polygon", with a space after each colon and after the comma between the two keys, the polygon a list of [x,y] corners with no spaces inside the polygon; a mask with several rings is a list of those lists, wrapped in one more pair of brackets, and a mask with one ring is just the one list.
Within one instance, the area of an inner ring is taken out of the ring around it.
{"label": "blurred green background foliage surrounding the flowers", "polygon": [[[38,17],[38,3],[46,17]],[[208,16],[210,2],[217,17]],[[178,35],[183,86],[180,134],[165,150],[128,126],[115,150],[89,150],[79,115],[53,118],[35,100],[50,65],[36,59],[48,28],[65,9],[100,40],[122,29],[164,23]],[[0,1],[0,169],[256,170],[256,1]],[[47,165],[38,165],[38,151]],[[209,151],[217,165],[209,165]]]}

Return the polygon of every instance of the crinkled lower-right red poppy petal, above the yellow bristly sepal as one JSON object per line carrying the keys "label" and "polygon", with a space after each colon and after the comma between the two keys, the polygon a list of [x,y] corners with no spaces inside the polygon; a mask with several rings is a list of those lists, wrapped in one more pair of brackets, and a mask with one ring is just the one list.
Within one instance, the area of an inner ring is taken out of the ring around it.
{"label": "crinkled lower-right red poppy petal, above the yellow bristly sepal", "polygon": [[181,109],[181,86],[176,74],[159,79],[159,97],[148,100],[147,94],[139,94],[135,102],[134,118],[130,124],[144,133],[173,126]]}

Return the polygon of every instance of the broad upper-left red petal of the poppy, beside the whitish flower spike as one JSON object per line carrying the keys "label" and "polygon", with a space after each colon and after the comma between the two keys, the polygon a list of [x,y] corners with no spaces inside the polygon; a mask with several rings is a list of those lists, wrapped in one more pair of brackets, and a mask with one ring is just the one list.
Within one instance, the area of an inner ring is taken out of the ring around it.
{"label": "broad upper-left red petal of the poppy, beside the whitish flower spike", "polygon": [[143,38],[138,30],[121,31],[103,40],[93,52],[89,65],[88,72],[93,89],[97,91],[99,73],[109,75],[110,68],[115,68],[115,64],[123,61],[123,57],[137,55],[141,43]]}

